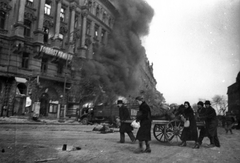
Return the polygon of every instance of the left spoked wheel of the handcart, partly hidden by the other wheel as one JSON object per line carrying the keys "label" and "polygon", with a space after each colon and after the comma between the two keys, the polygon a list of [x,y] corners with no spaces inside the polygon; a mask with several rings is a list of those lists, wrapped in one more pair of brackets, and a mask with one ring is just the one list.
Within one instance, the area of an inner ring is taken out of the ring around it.
{"label": "left spoked wheel of the handcart, partly hidden by the other wheel", "polygon": [[153,135],[160,142],[167,142],[166,135],[164,134],[165,125],[163,124],[155,124],[153,127]]}

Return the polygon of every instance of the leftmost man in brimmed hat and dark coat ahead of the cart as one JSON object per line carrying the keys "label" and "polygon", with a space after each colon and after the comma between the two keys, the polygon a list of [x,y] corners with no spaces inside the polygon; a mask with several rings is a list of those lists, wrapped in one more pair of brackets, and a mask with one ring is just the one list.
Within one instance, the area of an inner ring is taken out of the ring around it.
{"label": "leftmost man in brimmed hat and dark coat ahead of the cart", "polygon": [[122,100],[117,101],[117,105],[119,108],[119,118],[120,118],[120,141],[119,143],[125,143],[125,132],[128,134],[129,138],[133,143],[136,142],[136,138],[133,135],[133,127],[131,126],[131,123],[126,122],[127,120],[130,120],[130,113],[128,108],[123,104]]}

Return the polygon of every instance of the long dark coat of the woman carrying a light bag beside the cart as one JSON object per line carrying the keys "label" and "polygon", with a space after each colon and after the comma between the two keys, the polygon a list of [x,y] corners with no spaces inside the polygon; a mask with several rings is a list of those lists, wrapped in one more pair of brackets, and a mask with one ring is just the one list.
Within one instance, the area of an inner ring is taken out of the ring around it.
{"label": "long dark coat of the woman carrying a light bag beside the cart", "polygon": [[183,112],[183,116],[186,120],[190,121],[189,127],[184,127],[181,135],[182,141],[188,141],[188,140],[198,140],[198,131],[197,131],[197,124],[195,120],[195,116],[193,113],[192,108],[186,108]]}

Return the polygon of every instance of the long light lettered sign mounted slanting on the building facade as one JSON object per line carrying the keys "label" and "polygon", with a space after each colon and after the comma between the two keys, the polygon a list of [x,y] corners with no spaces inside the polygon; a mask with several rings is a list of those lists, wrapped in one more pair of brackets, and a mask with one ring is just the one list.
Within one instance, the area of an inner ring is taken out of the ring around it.
{"label": "long light lettered sign mounted slanting on the building facade", "polygon": [[48,55],[51,55],[51,56],[54,56],[54,57],[62,58],[62,59],[65,59],[65,60],[72,60],[72,58],[73,58],[73,56],[71,54],[64,53],[60,50],[53,49],[53,48],[50,48],[50,47],[46,47],[46,46],[43,46],[43,45],[40,46],[39,52],[42,52],[42,53],[45,53],[45,54],[48,54]]}

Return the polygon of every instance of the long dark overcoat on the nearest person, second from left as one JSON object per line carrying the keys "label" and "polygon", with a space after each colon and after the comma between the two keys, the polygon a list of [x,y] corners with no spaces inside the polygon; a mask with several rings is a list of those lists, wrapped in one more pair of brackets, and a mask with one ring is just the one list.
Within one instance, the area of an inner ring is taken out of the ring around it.
{"label": "long dark overcoat on the nearest person, second from left", "polygon": [[151,110],[146,102],[143,102],[139,106],[140,114],[137,116],[137,121],[140,122],[140,128],[138,129],[136,139],[139,141],[149,141],[151,140]]}

